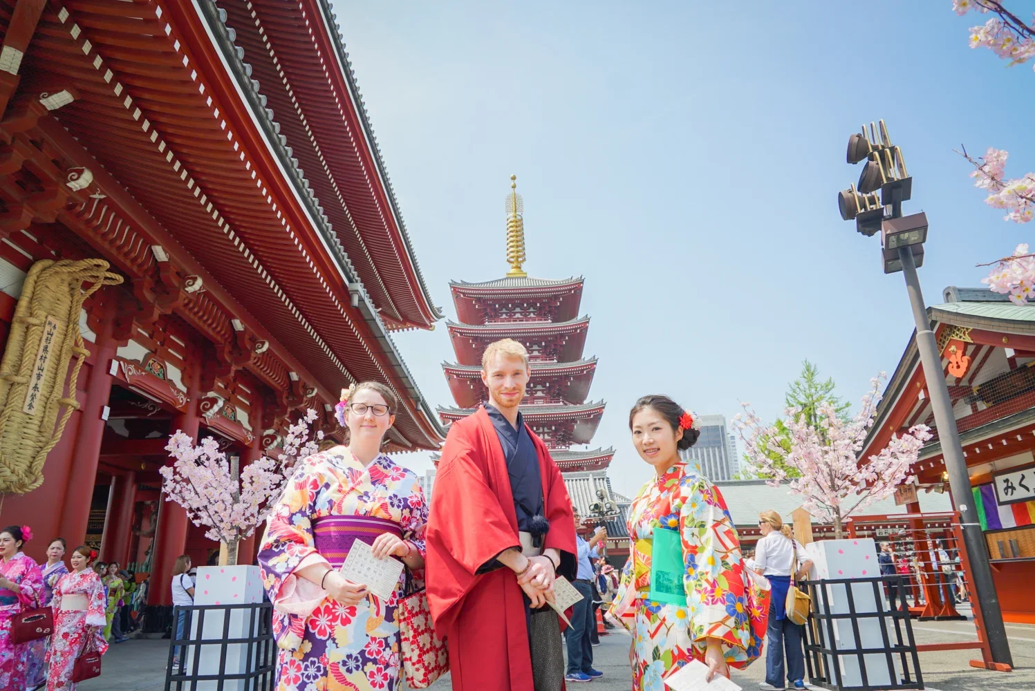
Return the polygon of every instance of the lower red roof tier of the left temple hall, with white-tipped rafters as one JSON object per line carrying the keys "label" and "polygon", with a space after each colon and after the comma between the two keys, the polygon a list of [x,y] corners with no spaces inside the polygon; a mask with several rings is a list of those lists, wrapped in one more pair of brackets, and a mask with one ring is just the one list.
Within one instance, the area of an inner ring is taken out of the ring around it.
{"label": "lower red roof tier of the left temple hall, with white-tipped rafters", "polygon": [[[322,31],[313,24],[276,30]],[[384,309],[233,36],[211,2],[47,3],[20,89],[65,89],[67,99],[53,110],[30,99],[23,108],[35,119],[22,126],[77,177],[88,169],[82,175],[92,182],[58,219],[90,242],[131,245],[113,250],[113,263],[142,294],[159,280],[178,284],[197,267],[189,277],[204,278],[203,295],[232,294],[235,319],[258,322],[276,350],[297,359],[305,371],[292,374],[312,375],[307,383],[331,400],[329,392],[353,381],[387,384],[401,398],[393,440],[436,448],[442,429],[390,339]]]}

